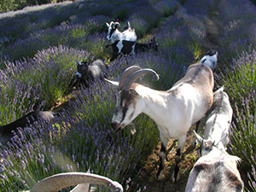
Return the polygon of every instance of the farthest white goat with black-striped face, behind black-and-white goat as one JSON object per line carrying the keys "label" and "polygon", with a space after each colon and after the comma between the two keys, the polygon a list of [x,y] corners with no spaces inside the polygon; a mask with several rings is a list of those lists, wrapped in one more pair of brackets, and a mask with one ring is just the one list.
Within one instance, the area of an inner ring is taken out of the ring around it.
{"label": "farthest white goat with black-striped face, behind black-and-white goat", "polygon": [[117,28],[120,25],[119,22],[111,21],[110,24],[106,22],[106,25],[108,26],[107,40],[111,41],[112,43],[120,40],[135,42],[137,40],[137,34],[134,28],[131,28],[129,21],[127,22],[127,24],[128,29],[126,29],[124,32],[119,32]]}

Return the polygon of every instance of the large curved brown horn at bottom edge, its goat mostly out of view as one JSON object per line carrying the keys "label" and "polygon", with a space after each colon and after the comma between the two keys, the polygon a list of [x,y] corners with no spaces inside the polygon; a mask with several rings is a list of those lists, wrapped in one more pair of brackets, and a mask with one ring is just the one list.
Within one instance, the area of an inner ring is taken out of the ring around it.
{"label": "large curved brown horn at bottom edge, its goat mostly out of view", "polygon": [[44,178],[36,183],[30,192],[55,192],[80,183],[102,184],[112,192],[123,192],[123,187],[118,182],[112,181],[108,177],[84,172],[66,172]]}

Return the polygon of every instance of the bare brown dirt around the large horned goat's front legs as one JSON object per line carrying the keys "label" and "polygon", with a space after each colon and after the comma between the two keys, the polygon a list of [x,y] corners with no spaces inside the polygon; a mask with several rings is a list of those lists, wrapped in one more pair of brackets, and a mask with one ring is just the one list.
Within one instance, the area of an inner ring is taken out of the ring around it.
{"label": "bare brown dirt around the large horned goat's front legs", "polygon": [[187,142],[185,148],[183,150],[183,156],[181,162],[179,163],[180,167],[180,179],[177,183],[172,183],[172,172],[175,166],[175,154],[177,148],[177,140],[171,140],[167,146],[167,157],[165,161],[164,168],[164,178],[161,181],[156,180],[156,173],[159,167],[159,156],[160,152],[160,143],[157,148],[154,149],[153,153],[148,156],[148,160],[146,160],[143,165],[143,172],[140,174],[138,178],[138,183],[146,186],[146,192],[179,192],[185,191],[186,183],[189,177],[189,172],[192,169],[195,161],[197,160],[197,152],[193,147],[193,137],[192,132],[189,131],[187,135]]}

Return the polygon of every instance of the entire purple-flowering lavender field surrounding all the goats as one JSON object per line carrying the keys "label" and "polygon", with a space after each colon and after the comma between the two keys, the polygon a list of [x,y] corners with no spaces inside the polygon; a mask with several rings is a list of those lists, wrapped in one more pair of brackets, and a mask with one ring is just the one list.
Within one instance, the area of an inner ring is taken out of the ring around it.
{"label": "entire purple-flowering lavender field surrounding all the goats", "polygon": [[72,97],[51,124],[38,122],[16,131],[11,143],[0,147],[0,189],[30,189],[55,173],[90,168],[119,181],[126,191],[143,191],[136,177],[142,172],[138,165],[158,142],[154,122],[140,115],[134,122],[136,134],[131,134],[131,127],[113,132],[109,122],[115,90],[95,82],[72,93],[75,61],[107,60],[111,51],[104,48],[108,44],[105,22],[119,18],[125,29],[130,20],[139,40],[146,42],[154,36],[159,50],[110,63],[109,79],[119,80],[126,67],[138,65],[160,74],[158,82],[145,76],[140,83],[157,90],[170,89],[189,64],[204,54],[206,18],[211,15],[223,26],[214,75],[216,85],[224,85],[234,110],[230,153],[242,160],[247,191],[256,191],[256,8],[247,0],[214,2],[77,1],[0,15],[0,125],[32,110],[49,110],[66,96]]}

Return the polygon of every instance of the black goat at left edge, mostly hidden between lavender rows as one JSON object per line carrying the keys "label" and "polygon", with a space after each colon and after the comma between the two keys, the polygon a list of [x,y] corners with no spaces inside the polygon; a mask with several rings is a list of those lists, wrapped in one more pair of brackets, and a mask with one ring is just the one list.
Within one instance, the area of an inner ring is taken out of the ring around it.
{"label": "black goat at left edge, mostly hidden between lavender rows", "polygon": [[8,125],[0,126],[0,143],[3,145],[8,143],[10,138],[13,137],[12,131],[16,131],[18,127],[24,128],[38,120],[49,122],[54,119],[54,114],[51,111],[32,111]]}

